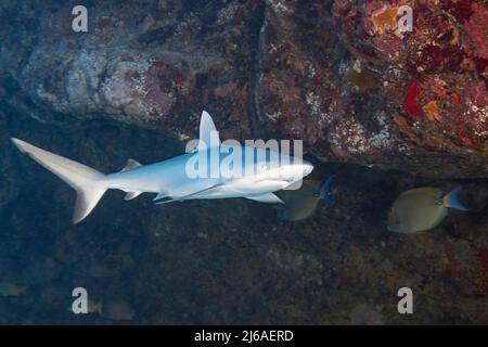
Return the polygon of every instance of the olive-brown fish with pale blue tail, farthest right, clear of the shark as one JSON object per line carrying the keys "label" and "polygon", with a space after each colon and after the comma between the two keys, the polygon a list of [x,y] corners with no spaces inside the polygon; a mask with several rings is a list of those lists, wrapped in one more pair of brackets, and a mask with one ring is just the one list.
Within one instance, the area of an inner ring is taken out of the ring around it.
{"label": "olive-brown fish with pale blue tail, farthest right, clear of the shark", "polygon": [[460,198],[461,185],[445,195],[439,188],[421,187],[401,193],[388,213],[387,229],[391,232],[423,232],[437,227],[449,208],[468,210]]}

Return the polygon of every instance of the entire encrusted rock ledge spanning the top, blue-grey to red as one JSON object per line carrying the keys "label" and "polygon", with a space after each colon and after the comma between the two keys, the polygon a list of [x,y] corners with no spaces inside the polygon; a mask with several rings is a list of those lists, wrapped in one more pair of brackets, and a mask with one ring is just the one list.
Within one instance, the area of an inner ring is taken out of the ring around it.
{"label": "entire encrusted rock ledge spanning the top, blue-grey to red", "polygon": [[[412,31],[396,28],[401,5]],[[481,1],[98,1],[81,34],[54,1],[0,11],[28,23],[0,34],[0,80],[18,90],[2,101],[41,121],[113,118],[183,140],[205,108],[223,139],[295,138],[328,162],[488,176]]]}

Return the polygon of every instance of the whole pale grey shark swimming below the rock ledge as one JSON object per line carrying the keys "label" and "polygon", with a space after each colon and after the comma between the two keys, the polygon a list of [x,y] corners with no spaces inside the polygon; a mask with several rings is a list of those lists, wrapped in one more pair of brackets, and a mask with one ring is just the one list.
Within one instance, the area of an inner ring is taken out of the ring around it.
{"label": "whole pale grey shark swimming below the rock ledge", "polygon": [[[149,165],[129,158],[120,171],[107,175],[23,140],[11,138],[11,141],[21,152],[75,189],[74,223],[84,220],[110,189],[124,191],[126,201],[142,193],[154,193],[156,205],[230,197],[282,204],[274,192],[295,188],[313,170],[313,165],[300,157],[283,153],[271,155],[269,149],[220,142],[214,120],[206,111],[201,116],[196,147]],[[214,154],[216,152],[217,155]],[[232,165],[224,166],[229,164],[231,153],[236,158]],[[228,171],[221,172],[222,167]],[[210,175],[200,175],[208,171]],[[219,175],[213,175],[215,171]]]}

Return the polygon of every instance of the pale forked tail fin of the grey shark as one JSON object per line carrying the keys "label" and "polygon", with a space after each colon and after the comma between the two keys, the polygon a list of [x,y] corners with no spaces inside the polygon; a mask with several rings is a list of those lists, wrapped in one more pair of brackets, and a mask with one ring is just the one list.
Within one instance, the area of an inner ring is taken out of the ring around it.
{"label": "pale forked tail fin of the grey shark", "polygon": [[68,158],[36,147],[18,139],[11,139],[21,152],[29,155],[34,160],[46,167],[52,174],[73,187],[76,192],[76,205],[73,222],[78,223],[97,206],[106,191],[106,187],[98,180],[103,174]]}

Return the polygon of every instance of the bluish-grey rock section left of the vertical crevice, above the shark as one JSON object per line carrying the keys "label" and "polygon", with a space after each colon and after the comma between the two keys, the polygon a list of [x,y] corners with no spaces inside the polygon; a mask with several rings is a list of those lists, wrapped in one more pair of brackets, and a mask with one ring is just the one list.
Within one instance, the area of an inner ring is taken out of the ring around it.
{"label": "bluish-grey rock section left of the vertical crevice, above the shark", "polygon": [[24,97],[8,102],[20,110],[34,103],[31,116],[42,121],[76,126],[110,117],[184,138],[195,134],[192,117],[205,106],[220,115],[224,130],[246,133],[253,4],[162,3],[131,2],[120,10],[99,1],[88,8],[88,33],[70,29],[69,5],[5,5],[2,15],[20,18],[38,10],[39,23],[21,31],[8,26],[2,34],[2,75]]}

